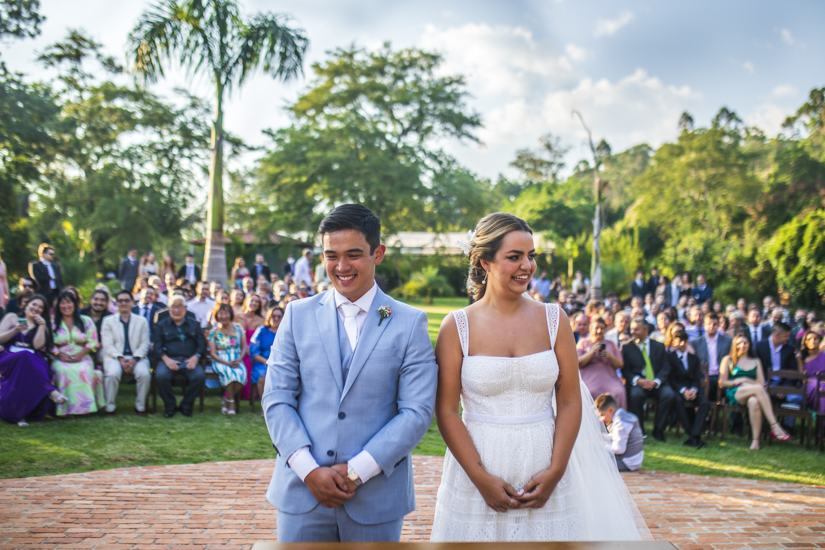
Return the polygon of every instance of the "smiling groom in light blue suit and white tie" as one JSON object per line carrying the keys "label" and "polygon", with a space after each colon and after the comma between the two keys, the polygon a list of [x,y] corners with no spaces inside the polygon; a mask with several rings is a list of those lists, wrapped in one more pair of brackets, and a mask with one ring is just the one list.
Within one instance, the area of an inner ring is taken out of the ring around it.
{"label": "smiling groom in light blue suit and white tie", "polygon": [[395,541],[415,510],[411,451],[432,422],[427,315],[381,292],[381,221],[338,206],[318,228],[333,289],[291,301],[262,407],[278,452],[278,542]]}

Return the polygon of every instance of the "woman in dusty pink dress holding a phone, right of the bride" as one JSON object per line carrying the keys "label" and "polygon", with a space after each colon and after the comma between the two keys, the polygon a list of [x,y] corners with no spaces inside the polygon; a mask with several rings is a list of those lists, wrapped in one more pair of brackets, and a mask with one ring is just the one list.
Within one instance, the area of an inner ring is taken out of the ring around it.
{"label": "woman in dusty pink dress holding a phone, right of the bride", "polygon": [[625,366],[619,348],[605,339],[607,325],[601,317],[590,324],[590,337],[580,339],[576,346],[578,369],[582,381],[593,399],[609,393],[622,408],[627,409],[625,385],[616,374],[616,369]]}

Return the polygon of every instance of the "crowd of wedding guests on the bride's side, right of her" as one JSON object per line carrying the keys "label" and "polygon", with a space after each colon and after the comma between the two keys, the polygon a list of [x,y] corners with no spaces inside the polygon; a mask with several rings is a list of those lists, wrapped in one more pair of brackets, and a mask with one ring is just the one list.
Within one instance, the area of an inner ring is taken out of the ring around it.
{"label": "crowd of wedding guests on the bride's side, right of her", "polygon": [[[586,288],[589,298],[589,282],[579,278],[577,290]],[[740,298],[725,306],[714,301],[713,288],[701,274],[693,283],[688,273],[670,280],[653,269],[645,279],[639,271],[629,291],[625,301],[610,293],[604,301],[582,303],[580,292],[563,287],[552,295],[546,273],[530,285],[534,299],[567,311],[582,380],[594,399],[610,396],[616,410],[636,416],[643,414],[646,401],[657,402],[654,439],[664,440],[667,425],[677,418],[686,431],[684,443],[704,447],[708,410],[717,401],[747,408],[753,449],[759,448],[762,418],[770,424],[771,437],[786,440],[795,420],[783,410],[805,407],[825,414],[825,382],[817,388],[817,375],[825,372],[825,321],[816,312],[798,309],[791,319],[789,309],[772,296],[761,304]],[[784,394],[779,388],[799,381],[779,377],[777,371],[804,373],[805,395]],[[777,422],[777,416],[785,420]],[[733,433],[741,434],[742,415],[732,417]]]}

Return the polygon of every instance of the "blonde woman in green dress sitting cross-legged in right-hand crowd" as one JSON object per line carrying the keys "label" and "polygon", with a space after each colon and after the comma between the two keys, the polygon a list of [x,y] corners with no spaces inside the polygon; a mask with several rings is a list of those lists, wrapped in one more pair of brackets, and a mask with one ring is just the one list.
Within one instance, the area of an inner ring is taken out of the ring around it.
{"label": "blonde woman in green dress sitting cross-legged in right-hand crowd", "polygon": [[719,387],[728,396],[731,405],[747,406],[751,421],[753,440],[751,450],[759,450],[759,436],[762,432],[762,415],[771,423],[771,437],[787,441],[790,435],[785,433],[771,406],[771,397],[765,391],[765,375],[762,364],[753,353],[751,341],[745,334],[733,337],[730,355],[722,359],[719,365]]}

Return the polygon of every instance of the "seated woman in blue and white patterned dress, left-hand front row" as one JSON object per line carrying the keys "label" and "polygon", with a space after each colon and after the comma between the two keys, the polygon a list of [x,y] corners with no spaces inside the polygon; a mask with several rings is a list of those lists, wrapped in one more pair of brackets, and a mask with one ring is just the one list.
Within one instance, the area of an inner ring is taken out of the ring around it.
{"label": "seated woman in blue and white patterned dress, left-hand front row", "polygon": [[212,316],[217,325],[209,333],[209,353],[212,369],[218,373],[220,385],[226,388],[220,412],[235,414],[235,395],[247,383],[247,369],[243,358],[249,353],[243,328],[233,323],[235,314],[229,304],[216,304]]}

